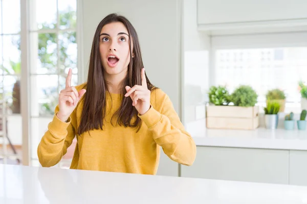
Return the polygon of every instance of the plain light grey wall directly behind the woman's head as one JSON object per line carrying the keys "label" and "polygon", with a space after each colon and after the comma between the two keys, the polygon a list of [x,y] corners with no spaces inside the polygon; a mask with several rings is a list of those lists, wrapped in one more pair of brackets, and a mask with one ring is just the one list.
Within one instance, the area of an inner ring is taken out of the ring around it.
{"label": "plain light grey wall directly behind the woman's head", "polygon": [[109,13],[126,16],[137,30],[149,80],[165,91],[180,114],[181,5],[179,0],[83,1],[83,65],[87,79],[92,40]]}

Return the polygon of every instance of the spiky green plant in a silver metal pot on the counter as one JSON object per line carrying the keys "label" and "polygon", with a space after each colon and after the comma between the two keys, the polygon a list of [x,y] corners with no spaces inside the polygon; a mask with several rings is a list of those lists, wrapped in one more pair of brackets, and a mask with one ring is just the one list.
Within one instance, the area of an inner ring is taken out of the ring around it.
{"label": "spiky green plant in a silver metal pot on the counter", "polygon": [[277,129],[278,125],[278,112],[280,104],[277,102],[269,101],[265,111],[265,126],[267,129]]}

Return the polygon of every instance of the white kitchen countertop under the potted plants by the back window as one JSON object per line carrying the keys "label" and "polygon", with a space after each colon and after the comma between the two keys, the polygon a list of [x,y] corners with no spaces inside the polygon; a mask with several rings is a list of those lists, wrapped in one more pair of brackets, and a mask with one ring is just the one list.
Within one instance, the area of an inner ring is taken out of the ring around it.
{"label": "white kitchen countertop under the potted plants by the back window", "polygon": [[207,129],[204,121],[187,125],[198,146],[307,150],[307,131]]}

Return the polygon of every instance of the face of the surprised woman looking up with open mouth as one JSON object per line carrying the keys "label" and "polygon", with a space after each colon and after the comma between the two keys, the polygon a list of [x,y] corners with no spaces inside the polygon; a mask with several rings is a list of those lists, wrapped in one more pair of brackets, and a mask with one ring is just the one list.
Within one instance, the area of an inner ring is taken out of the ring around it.
{"label": "face of the surprised woman looking up with open mouth", "polygon": [[130,62],[130,50],[129,36],[125,25],[122,22],[104,25],[100,32],[99,41],[104,71],[110,75],[126,72]]}

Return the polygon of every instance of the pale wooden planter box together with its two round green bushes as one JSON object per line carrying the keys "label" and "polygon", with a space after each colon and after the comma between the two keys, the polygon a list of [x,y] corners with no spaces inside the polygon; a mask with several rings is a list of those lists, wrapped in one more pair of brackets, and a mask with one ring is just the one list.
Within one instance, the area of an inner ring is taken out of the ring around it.
{"label": "pale wooden planter box together with its two round green bushes", "polygon": [[206,107],[208,129],[254,130],[259,126],[259,107],[255,106],[258,95],[252,87],[241,85],[231,95],[225,87],[218,90],[211,87],[209,92],[210,102],[215,106]]}

